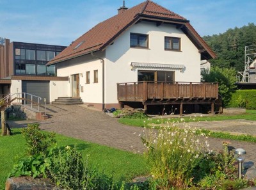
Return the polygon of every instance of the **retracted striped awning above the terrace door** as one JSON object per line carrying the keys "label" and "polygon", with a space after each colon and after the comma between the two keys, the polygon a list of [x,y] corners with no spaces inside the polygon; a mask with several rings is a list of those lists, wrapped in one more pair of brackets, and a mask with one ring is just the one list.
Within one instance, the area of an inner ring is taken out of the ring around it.
{"label": "retracted striped awning above the terrace door", "polygon": [[182,70],[184,65],[174,65],[174,64],[161,64],[161,63],[138,63],[132,62],[132,67],[138,68],[163,68],[163,69],[172,69],[172,70]]}

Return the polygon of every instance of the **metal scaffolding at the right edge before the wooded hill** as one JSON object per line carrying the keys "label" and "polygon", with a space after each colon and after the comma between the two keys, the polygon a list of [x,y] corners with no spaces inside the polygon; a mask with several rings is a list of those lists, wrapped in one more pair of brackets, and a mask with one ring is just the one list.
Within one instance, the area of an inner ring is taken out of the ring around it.
{"label": "metal scaffolding at the right edge before the wooded hill", "polygon": [[[245,46],[244,47],[244,71],[238,72],[240,83],[250,83],[250,65],[252,65],[253,61],[255,61],[255,58],[256,58],[256,45]],[[241,76],[242,76],[242,79],[240,78]]]}

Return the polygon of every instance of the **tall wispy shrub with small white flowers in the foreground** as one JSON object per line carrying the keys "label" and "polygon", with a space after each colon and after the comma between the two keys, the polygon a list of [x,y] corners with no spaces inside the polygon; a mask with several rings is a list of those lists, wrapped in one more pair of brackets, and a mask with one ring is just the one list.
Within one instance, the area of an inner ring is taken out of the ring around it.
{"label": "tall wispy shrub with small white flowers in the foreground", "polygon": [[170,125],[160,127],[157,133],[153,129],[145,133],[142,141],[156,189],[186,189],[192,185],[193,169],[202,158],[200,152],[209,146],[202,136],[190,128]]}

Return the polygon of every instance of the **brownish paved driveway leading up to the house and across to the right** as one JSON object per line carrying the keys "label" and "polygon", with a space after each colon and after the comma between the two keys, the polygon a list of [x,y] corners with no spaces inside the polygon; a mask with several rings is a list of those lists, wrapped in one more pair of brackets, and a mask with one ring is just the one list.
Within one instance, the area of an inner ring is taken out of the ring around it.
{"label": "brownish paved driveway leading up to the house and across to the right", "polygon": [[[48,106],[48,120],[40,122],[40,128],[54,131],[101,145],[111,146],[132,152],[143,152],[143,145],[139,134],[143,128],[122,125],[117,119],[100,111],[95,111],[82,106]],[[9,123],[11,127],[23,127],[26,121]],[[19,125],[18,125],[19,124]],[[256,122],[245,120],[228,120],[223,122],[198,122],[190,123],[191,126],[204,127],[219,131],[239,132],[256,135]],[[210,148],[221,149],[224,139],[209,138]],[[234,148],[244,148],[247,152],[246,161],[256,162],[256,143],[232,141]]]}

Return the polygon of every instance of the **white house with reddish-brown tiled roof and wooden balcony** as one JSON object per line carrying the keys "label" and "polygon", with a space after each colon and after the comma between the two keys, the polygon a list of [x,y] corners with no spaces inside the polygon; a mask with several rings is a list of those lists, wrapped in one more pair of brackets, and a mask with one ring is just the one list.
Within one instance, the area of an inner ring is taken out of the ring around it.
{"label": "white house with reddish-brown tiled roof and wooden balcony", "polygon": [[189,20],[145,1],[120,7],[47,65],[68,76],[68,96],[97,109],[179,105],[182,113],[183,104],[218,99],[218,84],[200,83],[200,61],[215,57]]}

